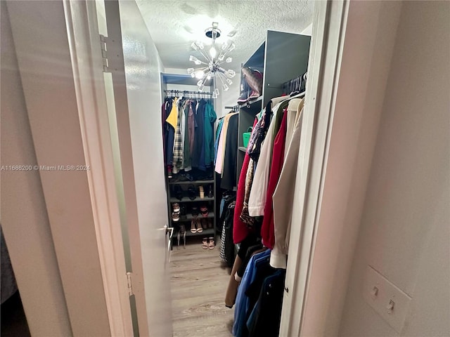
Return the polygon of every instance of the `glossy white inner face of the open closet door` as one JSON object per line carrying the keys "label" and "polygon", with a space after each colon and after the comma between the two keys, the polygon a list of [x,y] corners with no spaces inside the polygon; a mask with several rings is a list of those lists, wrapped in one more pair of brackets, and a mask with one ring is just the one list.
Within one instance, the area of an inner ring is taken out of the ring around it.
{"label": "glossy white inner face of the open closet door", "polygon": [[166,270],[167,199],[162,153],[162,62],[134,1],[120,1],[131,147],[141,232],[150,336],[171,336],[172,301]]}

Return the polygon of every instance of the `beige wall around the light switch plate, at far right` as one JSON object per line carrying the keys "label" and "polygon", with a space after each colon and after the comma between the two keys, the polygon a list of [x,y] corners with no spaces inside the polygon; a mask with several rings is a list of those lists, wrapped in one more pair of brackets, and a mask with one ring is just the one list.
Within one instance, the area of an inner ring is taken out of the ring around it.
{"label": "beige wall around the light switch plate, at far right", "polygon": [[[449,336],[448,2],[401,9],[340,336]],[[401,333],[365,303],[367,265],[412,297]]]}

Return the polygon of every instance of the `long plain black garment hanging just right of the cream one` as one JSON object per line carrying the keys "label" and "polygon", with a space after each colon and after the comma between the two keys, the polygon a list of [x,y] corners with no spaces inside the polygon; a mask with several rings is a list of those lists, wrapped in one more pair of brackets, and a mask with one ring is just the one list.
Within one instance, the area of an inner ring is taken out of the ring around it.
{"label": "long plain black garment hanging just right of the cream one", "polygon": [[224,190],[233,190],[236,187],[236,171],[238,156],[238,114],[234,114],[229,119],[226,130],[226,147],[224,156],[223,177],[220,187]]}

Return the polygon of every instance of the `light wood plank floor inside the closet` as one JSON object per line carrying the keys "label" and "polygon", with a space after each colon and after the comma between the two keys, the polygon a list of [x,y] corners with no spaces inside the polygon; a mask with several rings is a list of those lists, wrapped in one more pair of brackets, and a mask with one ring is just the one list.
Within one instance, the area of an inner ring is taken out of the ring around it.
{"label": "light wood plank floor inside the closet", "polygon": [[170,263],[173,336],[230,337],[234,309],[224,303],[230,269],[221,267],[218,245],[205,250],[201,238],[186,241],[186,249],[174,246]]}

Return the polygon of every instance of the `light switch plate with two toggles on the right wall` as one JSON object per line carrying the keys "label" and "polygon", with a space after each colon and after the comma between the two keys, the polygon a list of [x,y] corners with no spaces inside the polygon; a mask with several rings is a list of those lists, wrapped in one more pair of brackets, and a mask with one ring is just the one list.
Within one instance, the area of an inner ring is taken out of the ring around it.
{"label": "light switch plate with two toggles on the right wall", "polygon": [[[374,288],[376,287],[375,291]],[[376,295],[375,295],[376,293]],[[370,265],[363,287],[364,300],[398,333],[403,329],[411,297]],[[392,301],[392,302],[391,302]],[[390,305],[391,303],[391,305]],[[392,307],[392,310],[389,308]]]}

